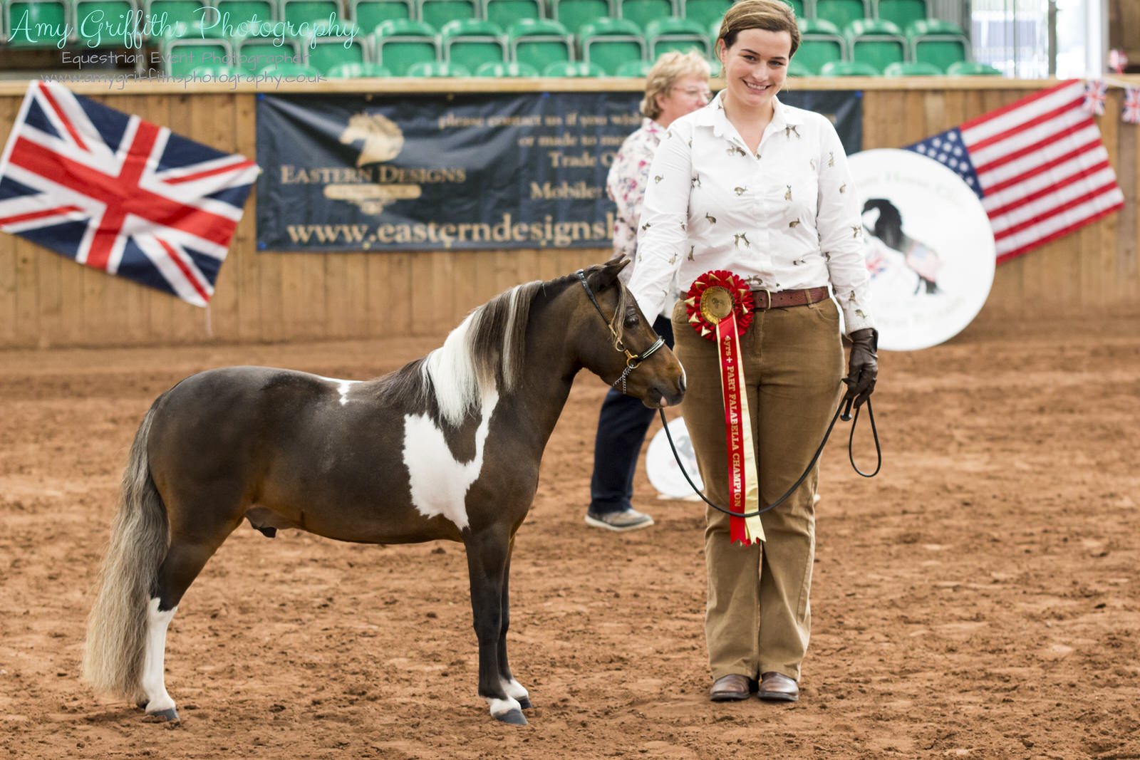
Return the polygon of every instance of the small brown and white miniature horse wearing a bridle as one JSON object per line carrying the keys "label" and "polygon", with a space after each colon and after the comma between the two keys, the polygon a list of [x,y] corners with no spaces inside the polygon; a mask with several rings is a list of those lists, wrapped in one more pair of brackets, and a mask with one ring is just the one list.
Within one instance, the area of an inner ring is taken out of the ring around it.
{"label": "small brown and white miniature horse wearing a bridle", "polygon": [[166,627],[243,520],[270,537],[450,539],[467,554],[479,695],[496,719],[526,724],[506,655],[511,551],[575,375],[586,367],[651,408],[684,395],[684,370],[618,279],[626,263],[514,287],[378,379],[228,367],[160,395],[123,474],[84,677],[177,720]]}

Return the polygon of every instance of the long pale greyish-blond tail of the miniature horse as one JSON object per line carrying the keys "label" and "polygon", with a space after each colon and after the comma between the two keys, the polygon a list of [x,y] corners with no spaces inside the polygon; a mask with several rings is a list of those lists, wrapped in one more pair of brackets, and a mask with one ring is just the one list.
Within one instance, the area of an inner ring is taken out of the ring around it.
{"label": "long pale greyish-blond tail of the miniature horse", "polygon": [[166,506],[150,479],[147,459],[147,439],[157,407],[156,400],[131,444],[83,651],[83,677],[96,689],[135,700],[142,693],[147,604],[170,544]]}

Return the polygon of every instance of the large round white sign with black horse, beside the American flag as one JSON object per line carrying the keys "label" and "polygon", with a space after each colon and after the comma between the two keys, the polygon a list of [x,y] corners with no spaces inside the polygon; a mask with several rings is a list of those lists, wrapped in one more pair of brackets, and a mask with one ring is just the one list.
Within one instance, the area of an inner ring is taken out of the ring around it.
{"label": "large round white sign with black horse, beside the American flag", "polygon": [[850,170],[879,348],[913,351],[958,335],[994,279],[994,236],[982,201],[953,171],[912,150],[856,153]]}

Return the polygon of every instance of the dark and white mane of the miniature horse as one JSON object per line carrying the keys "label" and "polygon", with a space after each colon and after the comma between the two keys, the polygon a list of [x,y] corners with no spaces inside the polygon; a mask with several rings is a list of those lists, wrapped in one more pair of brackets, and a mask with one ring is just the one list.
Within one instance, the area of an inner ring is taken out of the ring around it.
{"label": "dark and white mane of the miniature horse", "polygon": [[[535,299],[540,293],[556,295],[576,283],[577,276],[569,275],[545,283],[524,283],[500,293],[467,314],[443,345],[385,378],[386,390],[420,403],[433,395],[440,416],[451,425],[461,424],[467,412],[480,408],[488,392],[504,395],[521,379]],[[618,336],[628,303],[624,287],[620,293],[611,322]]]}

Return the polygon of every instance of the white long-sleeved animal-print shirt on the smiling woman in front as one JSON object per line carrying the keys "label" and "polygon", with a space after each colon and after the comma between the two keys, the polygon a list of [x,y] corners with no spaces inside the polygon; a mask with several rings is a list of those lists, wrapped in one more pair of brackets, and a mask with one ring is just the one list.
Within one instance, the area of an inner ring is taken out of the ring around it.
{"label": "white long-sleeved animal-print shirt on the smiling woman in front", "polygon": [[831,285],[848,333],[874,327],[858,197],[834,126],[775,100],[754,154],[723,97],[673,122],[653,158],[629,281],[642,312],[660,311],[675,276],[685,291],[726,269],[773,293]]}

